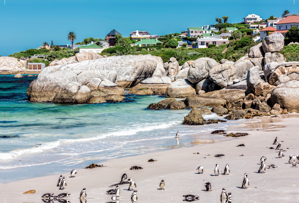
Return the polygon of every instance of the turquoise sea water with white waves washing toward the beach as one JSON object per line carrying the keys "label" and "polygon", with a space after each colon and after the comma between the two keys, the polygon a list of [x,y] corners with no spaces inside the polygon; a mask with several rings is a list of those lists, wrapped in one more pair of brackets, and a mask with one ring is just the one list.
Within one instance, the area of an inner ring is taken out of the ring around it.
{"label": "turquoise sea water with white waves washing toward the beach", "polygon": [[[190,109],[147,109],[165,99],[163,96],[126,94],[126,100],[135,101],[121,103],[32,103],[23,99],[34,79],[0,77],[0,182],[66,172],[109,158],[194,146],[204,140],[213,142],[223,137],[209,131],[236,125],[187,126],[181,123]],[[220,117],[213,113],[204,118]],[[179,143],[173,139],[177,131]]]}

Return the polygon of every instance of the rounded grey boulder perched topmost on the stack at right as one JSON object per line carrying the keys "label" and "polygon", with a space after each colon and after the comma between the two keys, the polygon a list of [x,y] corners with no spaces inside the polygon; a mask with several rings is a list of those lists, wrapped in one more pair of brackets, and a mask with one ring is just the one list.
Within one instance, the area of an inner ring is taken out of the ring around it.
{"label": "rounded grey boulder perched topmost on the stack at right", "polygon": [[284,37],[279,32],[274,32],[263,40],[264,52],[280,52],[284,46]]}

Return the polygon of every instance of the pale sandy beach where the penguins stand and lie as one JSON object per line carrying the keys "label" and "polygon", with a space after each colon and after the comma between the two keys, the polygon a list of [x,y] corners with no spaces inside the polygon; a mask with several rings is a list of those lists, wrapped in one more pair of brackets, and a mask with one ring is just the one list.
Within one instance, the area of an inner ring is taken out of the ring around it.
{"label": "pale sandy beach where the penguins stand and lie", "polygon": [[[71,193],[65,199],[80,202],[79,195],[86,188],[87,202],[111,202],[111,195],[106,194],[109,185],[120,181],[126,173],[132,178],[138,190],[137,202],[181,202],[183,195],[197,195],[198,202],[219,202],[222,188],[232,193],[232,202],[299,202],[297,182],[298,167],[288,163],[290,154],[298,154],[298,122],[299,114],[291,113],[278,117],[258,117],[261,122],[230,125],[230,132],[245,132],[248,136],[228,138],[227,141],[202,144],[159,152],[151,152],[137,156],[110,159],[103,164],[107,167],[94,169],[77,169],[76,177],[66,177],[65,190],[59,190],[59,175],[49,175],[22,181],[0,184],[1,202],[42,202],[44,193]],[[278,158],[277,145],[273,145],[275,137],[282,142],[285,157]],[[183,137],[181,138],[183,139]],[[245,146],[239,146],[244,144]],[[274,147],[269,149],[267,147]],[[199,154],[193,154],[197,153]],[[222,157],[214,157],[224,154]],[[243,156],[241,156],[243,155]],[[266,169],[266,173],[257,173],[260,158],[267,158],[266,165],[281,166]],[[147,162],[149,159],[157,160]],[[214,175],[214,167],[219,164],[219,176]],[[225,165],[229,164],[230,174],[222,175]],[[198,174],[196,168],[204,166],[204,173]],[[129,170],[131,166],[141,166],[142,170]],[[22,173],[22,169],[20,170]],[[248,174],[250,186],[241,189],[244,174]],[[161,179],[165,181],[165,190],[158,190]],[[205,183],[210,182],[212,191],[206,192]],[[131,202],[132,191],[128,184],[120,186],[119,202]],[[135,189],[135,188],[134,188]],[[36,190],[34,194],[22,194],[28,190]]]}

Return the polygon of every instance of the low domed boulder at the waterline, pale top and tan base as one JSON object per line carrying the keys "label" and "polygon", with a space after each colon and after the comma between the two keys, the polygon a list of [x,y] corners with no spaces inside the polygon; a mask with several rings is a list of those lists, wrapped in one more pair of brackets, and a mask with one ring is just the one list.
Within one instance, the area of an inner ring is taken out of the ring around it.
{"label": "low domed boulder at the waterline, pale top and tan base", "polygon": [[194,85],[187,79],[178,79],[171,83],[166,89],[167,97],[187,97],[196,94]]}

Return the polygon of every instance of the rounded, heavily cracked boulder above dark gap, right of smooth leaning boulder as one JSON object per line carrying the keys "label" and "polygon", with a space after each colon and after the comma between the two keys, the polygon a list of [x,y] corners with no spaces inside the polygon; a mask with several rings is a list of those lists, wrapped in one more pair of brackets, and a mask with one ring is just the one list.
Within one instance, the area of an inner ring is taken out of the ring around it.
{"label": "rounded, heavily cracked boulder above dark gap, right of smooth leaning boulder", "polygon": [[209,72],[209,79],[220,87],[227,87],[228,84],[233,84],[236,78],[236,70],[230,63],[219,64]]}

